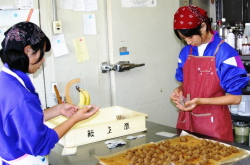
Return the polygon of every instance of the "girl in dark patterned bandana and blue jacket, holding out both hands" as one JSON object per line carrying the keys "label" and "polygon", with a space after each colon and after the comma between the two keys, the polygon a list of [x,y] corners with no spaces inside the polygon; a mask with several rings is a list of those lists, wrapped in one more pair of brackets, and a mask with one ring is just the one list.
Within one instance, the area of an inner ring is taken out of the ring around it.
{"label": "girl in dark patterned bandana and blue jacket, holding out both hands", "polygon": [[[51,48],[48,37],[31,22],[17,23],[4,35],[0,51],[4,64],[0,72],[0,160],[4,165],[48,165],[46,155],[58,140],[99,107],[78,109],[64,103],[43,110],[28,74],[45,61],[44,54]],[[58,115],[68,119],[54,129],[44,124]]]}

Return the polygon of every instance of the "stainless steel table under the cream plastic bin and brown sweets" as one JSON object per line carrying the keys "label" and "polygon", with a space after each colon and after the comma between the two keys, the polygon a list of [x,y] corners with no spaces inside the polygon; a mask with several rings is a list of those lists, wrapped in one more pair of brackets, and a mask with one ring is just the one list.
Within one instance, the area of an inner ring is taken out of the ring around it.
{"label": "stainless steel table under the cream plastic bin and brown sweets", "polygon": [[[130,135],[114,138],[114,139],[122,139],[123,141],[127,142],[126,145],[123,145],[114,149],[108,149],[106,144],[104,144],[104,142],[107,140],[104,140],[104,141],[100,141],[96,143],[78,146],[77,153],[75,155],[61,156],[63,146],[61,146],[60,144],[56,144],[55,148],[52,149],[49,155],[49,162],[51,165],[99,165],[99,162],[94,157],[94,155],[105,156],[105,155],[113,154],[122,150],[129,149],[131,147],[135,147],[141,144],[169,139],[165,136],[156,135],[157,132],[165,131],[165,132],[175,133],[177,134],[175,137],[179,136],[179,134],[181,133],[181,130],[179,129],[164,126],[164,125],[149,122],[149,121],[146,121],[146,128],[147,128],[147,131],[145,132],[139,132],[139,133],[131,135],[131,136],[137,136],[137,135],[142,135],[142,134],[146,135],[145,137],[142,137],[142,138],[136,138],[134,140],[127,140],[127,137]],[[233,146],[244,148],[246,150],[250,150],[249,146],[227,142],[227,141],[221,141],[221,140],[207,137],[204,135],[199,135],[199,134],[194,134],[194,135],[201,137],[201,138],[216,140],[219,142],[224,142]],[[236,162],[235,165],[249,165],[250,164],[249,161],[250,161],[250,158],[249,159],[246,158],[242,160],[241,162]],[[245,164],[247,162],[248,164]]]}

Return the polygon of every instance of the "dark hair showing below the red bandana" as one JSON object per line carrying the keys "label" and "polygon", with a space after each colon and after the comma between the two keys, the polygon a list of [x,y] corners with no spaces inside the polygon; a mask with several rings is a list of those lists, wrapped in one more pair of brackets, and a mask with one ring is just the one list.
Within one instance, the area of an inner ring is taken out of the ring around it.
{"label": "dark hair showing below the red bandana", "polygon": [[[206,32],[208,33],[209,31],[212,31],[211,26],[210,26],[210,21],[208,20],[204,23],[207,25]],[[174,32],[175,32],[175,35],[180,40],[182,40],[179,33],[181,33],[185,37],[192,37],[193,35],[201,36],[201,28],[202,28],[202,24],[200,24],[199,26],[197,26],[196,28],[193,28],[193,29],[175,29]]]}

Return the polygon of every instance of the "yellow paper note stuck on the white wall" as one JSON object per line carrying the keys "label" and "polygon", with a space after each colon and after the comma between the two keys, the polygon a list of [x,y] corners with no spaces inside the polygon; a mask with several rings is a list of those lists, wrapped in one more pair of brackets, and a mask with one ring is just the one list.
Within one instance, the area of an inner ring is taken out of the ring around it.
{"label": "yellow paper note stuck on the white wall", "polygon": [[74,39],[74,47],[78,63],[89,60],[88,47],[85,41],[85,37]]}

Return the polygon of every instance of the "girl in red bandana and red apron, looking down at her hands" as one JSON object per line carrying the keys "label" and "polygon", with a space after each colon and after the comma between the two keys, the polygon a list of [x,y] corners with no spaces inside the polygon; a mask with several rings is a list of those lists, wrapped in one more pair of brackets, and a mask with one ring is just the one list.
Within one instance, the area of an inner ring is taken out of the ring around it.
{"label": "girl in red bandana and red apron, looking down at her hands", "polygon": [[211,29],[207,12],[197,6],[180,7],[173,24],[186,43],[175,74],[180,86],[170,96],[180,109],[176,127],[233,141],[228,105],[241,102],[249,81],[239,54]]}

